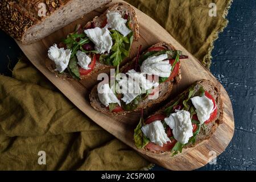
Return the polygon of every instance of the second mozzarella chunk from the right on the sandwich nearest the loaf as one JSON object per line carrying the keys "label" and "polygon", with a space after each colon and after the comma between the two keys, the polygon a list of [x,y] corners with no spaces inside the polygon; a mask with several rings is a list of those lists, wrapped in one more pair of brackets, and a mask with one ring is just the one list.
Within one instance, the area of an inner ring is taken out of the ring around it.
{"label": "second mozzarella chunk from the right on the sandwich nearest the loaf", "polygon": [[108,28],[91,28],[84,31],[86,36],[94,43],[96,51],[100,53],[108,52],[112,48],[113,42]]}

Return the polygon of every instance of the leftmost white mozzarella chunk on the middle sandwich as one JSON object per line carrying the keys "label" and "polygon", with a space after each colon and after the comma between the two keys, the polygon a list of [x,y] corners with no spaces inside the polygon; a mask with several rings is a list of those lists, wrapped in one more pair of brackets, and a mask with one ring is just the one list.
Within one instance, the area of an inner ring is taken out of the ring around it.
{"label": "leftmost white mozzarella chunk on the middle sandwich", "polygon": [[100,88],[98,88],[98,98],[106,107],[108,107],[110,103],[117,103],[121,106],[120,101],[117,96],[115,96],[112,89],[110,89],[109,84],[100,85]]}

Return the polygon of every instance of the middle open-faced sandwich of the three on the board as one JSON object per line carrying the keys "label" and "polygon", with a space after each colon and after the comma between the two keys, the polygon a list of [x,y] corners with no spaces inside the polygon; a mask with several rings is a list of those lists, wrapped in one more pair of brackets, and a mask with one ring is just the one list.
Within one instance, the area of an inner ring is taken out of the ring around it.
{"label": "middle open-faced sandwich of the three on the board", "polygon": [[181,80],[180,59],[187,56],[164,42],[139,52],[120,69],[119,76],[115,75],[114,85],[104,80],[94,86],[90,93],[94,109],[105,114],[126,114],[170,96],[172,86]]}

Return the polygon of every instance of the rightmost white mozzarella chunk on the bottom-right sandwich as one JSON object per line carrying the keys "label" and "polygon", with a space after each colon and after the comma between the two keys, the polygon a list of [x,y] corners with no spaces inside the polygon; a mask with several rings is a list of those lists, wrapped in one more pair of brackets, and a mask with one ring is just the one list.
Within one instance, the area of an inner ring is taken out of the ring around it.
{"label": "rightmost white mozzarella chunk on the bottom-right sandwich", "polygon": [[206,96],[196,96],[191,98],[193,106],[196,108],[197,118],[200,124],[203,124],[210,118],[210,114],[214,111],[213,101]]}

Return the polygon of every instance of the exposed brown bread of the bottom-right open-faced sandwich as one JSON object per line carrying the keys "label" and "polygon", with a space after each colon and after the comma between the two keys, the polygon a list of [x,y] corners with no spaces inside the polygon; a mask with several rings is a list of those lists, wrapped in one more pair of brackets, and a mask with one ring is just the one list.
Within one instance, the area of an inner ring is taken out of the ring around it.
{"label": "exposed brown bread of the bottom-right open-faced sandwich", "polygon": [[[207,125],[205,125],[205,129],[201,128],[199,131],[199,134],[197,134],[196,141],[194,144],[187,144],[184,146],[184,148],[189,148],[189,147],[194,147],[196,144],[203,142],[204,140],[209,139],[214,131],[217,129],[218,125],[220,125],[223,122],[223,107],[222,107],[222,100],[221,100],[221,93],[220,93],[220,85],[215,85],[209,80],[200,80],[195,82],[192,86],[196,86],[196,90],[200,88],[200,86],[203,86],[204,90],[209,92],[209,94],[214,98],[216,101],[216,106],[217,106],[217,117]],[[168,106],[171,106],[174,104],[174,102],[180,98],[181,96],[184,96],[185,94],[188,94],[189,90],[185,90],[183,93],[179,94],[174,100],[170,101],[166,106],[162,107],[162,109],[156,111],[152,115],[157,115],[157,114],[164,114],[164,109],[166,109]],[[150,115],[150,117],[152,116]],[[150,118],[148,117],[148,118]],[[143,150],[148,150],[154,153],[163,153],[163,152],[170,152],[170,151],[155,151],[148,149],[147,147],[144,147]]]}

